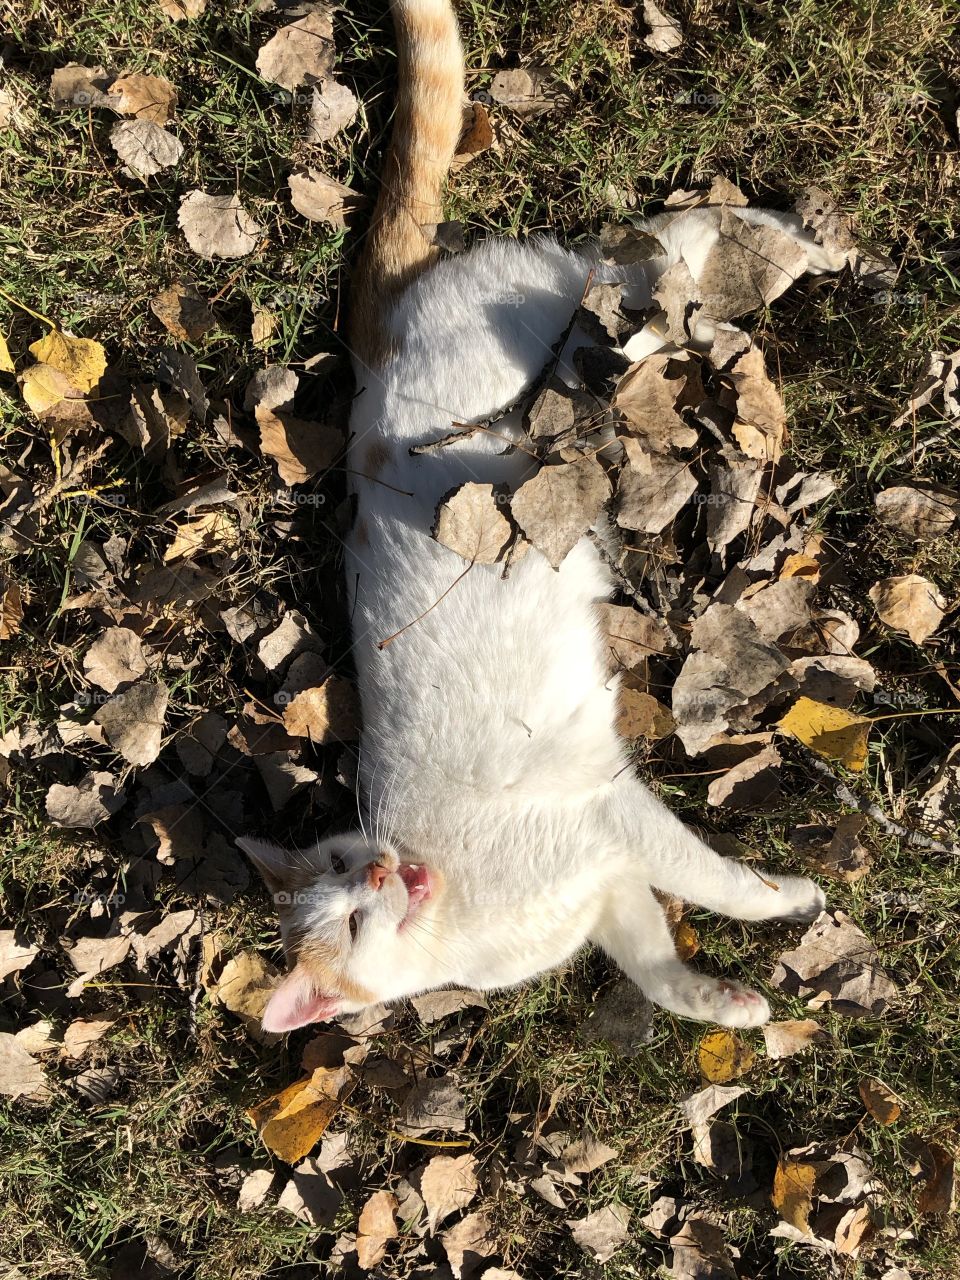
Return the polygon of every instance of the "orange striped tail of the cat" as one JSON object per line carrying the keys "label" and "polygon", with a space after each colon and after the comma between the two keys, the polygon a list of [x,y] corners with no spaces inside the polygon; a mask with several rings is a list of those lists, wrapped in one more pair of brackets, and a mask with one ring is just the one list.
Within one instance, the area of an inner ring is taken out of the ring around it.
{"label": "orange striped tail of the cat", "polygon": [[463,52],[451,0],[392,0],[397,111],[364,251],[352,285],[355,355],[389,355],[390,303],[439,256],[440,196],[463,120]]}

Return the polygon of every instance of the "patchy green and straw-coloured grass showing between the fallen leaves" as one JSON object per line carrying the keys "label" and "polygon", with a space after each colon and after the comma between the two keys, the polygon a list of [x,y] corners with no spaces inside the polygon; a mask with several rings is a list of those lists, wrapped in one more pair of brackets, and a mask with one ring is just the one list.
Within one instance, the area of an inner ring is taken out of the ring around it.
{"label": "patchy green and straw-coloured grass showing between the fallen leaves", "polygon": [[[897,433],[888,426],[924,356],[960,343],[956,86],[943,69],[952,65],[951,5],[698,0],[671,12],[685,44],[663,56],[640,42],[634,8],[611,0],[463,4],[471,90],[483,88],[500,67],[540,63],[556,68],[570,100],[561,111],[525,124],[498,116],[497,150],[452,182],[451,216],[462,219],[474,237],[549,229],[577,241],[612,218],[653,211],[671,188],[717,173],[780,207],[808,183],[837,196],[860,233],[892,252],[901,271],[893,297],[877,300],[845,276],[809,282],[780,300],[756,328],[785,390],[792,454],[837,474],[824,531],[845,552],[849,576],[836,590],[861,623],[859,652],[882,672],[883,689],[918,700],[911,708],[955,705],[927,654],[873,626],[867,599],[869,585],[891,572],[924,573],[951,602],[960,588],[956,543],[918,547],[872,515],[873,493],[886,484],[957,472],[955,438],[931,449],[913,471],[895,467],[911,431],[909,425]],[[177,26],[146,0],[0,0],[0,14],[9,40],[5,84],[23,101],[23,128],[0,134],[0,287],[9,297],[97,338],[128,375],[148,375],[165,340],[148,300],[189,271],[204,296],[216,297],[218,328],[188,349],[209,394],[234,407],[250,372],[266,360],[297,362],[317,349],[339,348],[355,238],[305,224],[287,198],[287,174],[306,157],[303,109],[276,101],[255,70],[259,46],[278,26],[275,14],[219,0],[198,19]],[[372,191],[392,102],[392,36],[381,9],[366,5],[338,12],[335,29],[342,74],[364,106],[360,122],[312,160]],[[108,141],[109,113],[50,108],[49,76],[68,61],[148,70],[178,86],[175,132],[184,159],[175,174],[146,184],[122,177]],[[681,96],[691,93],[708,101],[684,105]],[[177,207],[192,187],[237,191],[269,228],[266,244],[238,262],[207,264],[187,253]],[[255,305],[278,316],[268,351],[250,340]],[[3,297],[0,328],[18,358],[42,333],[42,325]],[[305,383],[307,407],[311,399],[320,406],[324,389],[308,376]],[[49,484],[50,451],[9,378],[0,379],[0,422],[6,465],[37,486]],[[924,430],[942,425],[936,415],[924,416]],[[192,433],[177,448],[184,476],[224,468],[251,502],[253,522],[233,567],[236,598],[262,591],[296,603],[311,616],[330,655],[343,654],[337,541],[328,530],[328,513],[343,497],[342,476],[324,483],[323,507],[278,512],[257,460],[223,449],[209,430]],[[82,689],[83,616],[60,609],[76,590],[77,547],[81,538],[102,541],[119,530],[129,536],[136,563],[146,564],[163,545],[152,512],[169,497],[169,479],[160,466],[113,448],[90,481],[115,485],[109,493],[119,494],[123,506],[102,494],[55,502],[29,547],[3,552],[5,570],[29,596],[22,634],[0,648],[0,732],[23,721],[55,721],[59,705]],[[276,529],[291,517],[293,543]],[[168,675],[174,727],[186,723],[192,707],[214,705],[227,714],[242,701],[229,646],[200,632],[193,643],[198,666]],[[950,660],[946,649],[938,657]],[[950,669],[956,682],[956,664]],[[902,818],[904,801],[927,785],[923,769],[955,739],[955,724],[945,717],[886,722],[874,733],[858,786]],[[87,758],[99,759],[95,750]],[[644,767],[654,778],[662,776],[664,796],[687,820],[763,847],[773,865],[796,865],[785,838],[791,826],[841,812],[800,756],[790,759],[781,806],[765,817],[707,810],[709,778],[698,776],[678,749],[650,751]],[[668,777],[677,773],[689,776]],[[36,771],[18,771],[10,780],[0,895],[5,918],[28,923],[52,964],[56,940],[79,910],[77,887],[91,879],[123,883],[125,855],[122,833],[104,841],[49,829],[42,806],[49,781]],[[315,829],[316,817],[305,806],[294,806],[293,814],[292,837]],[[914,1276],[945,1277],[960,1263],[956,1230],[918,1216],[902,1142],[910,1133],[945,1144],[956,1139],[960,884],[956,865],[940,855],[877,831],[869,840],[873,872],[854,887],[831,886],[831,900],[876,940],[902,991],[900,1007],[876,1024],[826,1015],[833,1044],[782,1062],[758,1059],[748,1078],[750,1093],[731,1114],[755,1143],[763,1185],[769,1185],[782,1149],[855,1135],[876,1161],[892,1220],[915,1233],[915,1239],[887,1244],[891,1258]],[[197,905],[168,883],[160,900],[170,909]],[[257,888],[230,908],[205,909],[205,915],[228,950],[257,946],[279,960],[274,920]],[[759,983],[796,937],[705,914],[694,923],[701,942],[698,964]],[[116,1101],[90,1107],[60,1089],[47,1107],[23,1101],[0,1107],[0,1260],[18,1265],[29,1280],[101,1280],[111,1275],[123,1245],[150,1244],[156,1252],[160,1240],[177,1258],[175,1274],[198,1280],[321,1274],[315,1260],[326,1257],[333,1236],[279,1212],[241,1213],[214,1165],[219,1152],[234,1147],[268,1162],[243,1107],[297,1076],[306,1036],[261,1048],[205,997],[193,1020],[187,992],[172,978],[132,987],[114,980],[118,972],[74,1002],[76,1009],[51,1001],[58,1025],[100,1006],[118,1018],[91,1059],[124,1073]],[[700,1028],[659,1014],[648,1052],[630,1060],[580,1042],[586,1012],[613,979],[607,963],[589,955],[561,974],[497,996],[463,1064],[470,1129],[483,1160],[509,1165],[518,1132],[508,1114],[543,1111],[550,1103],[563,1123],[591,1125],[621,1152],[586,1179],[570,1215],[507,1180],[490,1206],[500,1239],[509,1242],[504,1265],[529,1280],[582,1276],[588,1266],[563,1217],[582,1216],[614,1197],[636,1216],[666,1192],[721,1215],[728,1239],[741,1249],[744,1274],[822,1276],[819,1256],[796,1247],[774,1256],[767,1236],[774,1216],[763,1196],[749,1203],[732,1199],[690,1158],[676,1103],[699,1084]],[[0,1028],[15,1027],[23,1014],[23,1001],[13,996],[3,1005]],[[777,1014],[804,1016],[805,1007],[780,1000]],[[467,1027],[474,1027],[468,1018]],[[429,1052],[433,1038],[406,1011],[384,1037],[384,1051],[419,1044]],[[759,1046],[759,1036],[749,1038]],[[864,1117],[858,1082],[867,1074],[905,1100],[904,1119],[892,1129]],[[348,1197],[338,1230],[355,1229],[365,1194],[425,1153],[389,1135],[394,1108],[383,1092],[362,1087],[351,1107],[347,1121],[364,1156],[364,1180]],[[844,1274],[858,1280],[878,1275],[877,1247],[846,1263]],[[668,1263],[668,1251],[637,1229],[635,1243],[603,1274],[611,1280],[652,1276],[664,1258]],[[389,1258],[383,1270],[406,1274]]]}

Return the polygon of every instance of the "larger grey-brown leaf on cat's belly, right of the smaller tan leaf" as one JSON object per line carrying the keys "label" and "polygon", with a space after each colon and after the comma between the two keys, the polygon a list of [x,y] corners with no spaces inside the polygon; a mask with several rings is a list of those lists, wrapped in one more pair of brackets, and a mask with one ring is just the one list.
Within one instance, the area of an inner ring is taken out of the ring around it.
{"label": "larger grey-brown leaf on cat's belly, right of the smaller tan leaf", "polygon": [[517,489],[513,518],[554,568],[576,547],[611,495],[611,484],[595,458],[540,467]]}

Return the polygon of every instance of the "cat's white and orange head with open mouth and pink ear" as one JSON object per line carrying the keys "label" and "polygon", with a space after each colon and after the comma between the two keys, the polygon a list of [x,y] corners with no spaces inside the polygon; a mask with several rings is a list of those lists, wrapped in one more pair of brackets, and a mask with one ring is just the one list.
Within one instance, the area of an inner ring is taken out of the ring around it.
{"label": "cat's white and orange head with open mouth and pink ear", "polygon": [[296,850],[247,837],[237,844],[273,895],[291,966],[264,1010],[264,1030],[415,993],[416,984],[398,989],[398,969],[412,946],[407,931],[438,888],[435,873],[360,832]]}

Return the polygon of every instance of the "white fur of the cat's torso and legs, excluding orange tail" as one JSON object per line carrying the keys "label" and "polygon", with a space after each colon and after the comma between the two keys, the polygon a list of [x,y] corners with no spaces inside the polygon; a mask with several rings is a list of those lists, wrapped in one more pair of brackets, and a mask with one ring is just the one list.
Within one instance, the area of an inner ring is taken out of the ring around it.
{"label": "white fur of the cat's torso and legs, excluding orange tail", "polygon": [[[810,269],[838,265],[790,215],[736,212],[794,233],[809,246]],[[634,301],[649,301],[677,257],[696,275],[717,223],[716,210],[657,220],[667,256],[631,269]],[[530,458],[504,454],[503,440],[485,433],[435,454],[408,452],[452,422],[513,402],[598,269],[628,275],[550,239],[488,242],[401,298],[389,316],[398,360],[385,371],[356,370],[349,467],[358,509],[346,571],[364,808],[379,829],[351,845],[348,905],[370,918],[357,946],[344,946],[344,972],[380,1000],[449,983],[506,987],[593,941],[653,1001],[754,1025],[768,1018],[767,1002],[677,960],[652,886],[740,919],[809,919],[823,893],[809,879],[762,878],[719,858],[635,777],[614,730],[617,682],[605,675],[598,634],[595,605],[612,584],[586,538],[559,571],[531,550],[504,579],[500,566],[465,573],[466,562],[430,536],[448,490],[467,480],[515,486]],[[566,376],[575,379],[568,366]],[[497,429],[508,428],[509,419]],[[375,440],[390,447],[390,461],[364,479]],[[324,867],[335,844],[305,855],[319,859],[317,876],[297,916],[328,941],[337,932],[330,916],[346,910],[337,906],[344,878]],[[358,877],[381,849],[443,878],[404,931],[389,913],[375,916],[376,895],[364,899]],[[342,919],[338,928],[342,937]]]}

